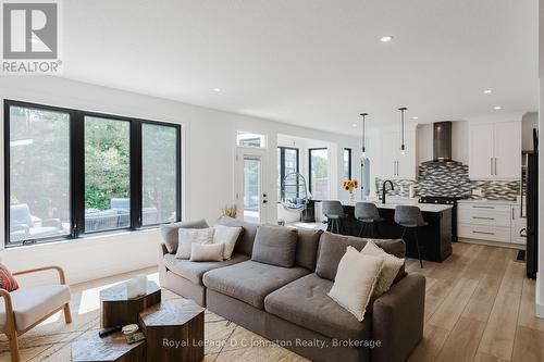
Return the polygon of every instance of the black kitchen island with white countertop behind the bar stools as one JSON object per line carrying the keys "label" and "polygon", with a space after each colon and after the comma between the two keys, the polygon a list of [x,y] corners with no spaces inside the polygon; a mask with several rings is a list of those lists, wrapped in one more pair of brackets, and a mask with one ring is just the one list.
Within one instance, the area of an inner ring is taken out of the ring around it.
{"label": "black kitchen island with white countertop behind the bar stools", "polygon": [[[395,223],[395,208],[398,204],[413,204],[421,209],[423,219],[429,223],[428,226],[418,228],[419,242],[421,246],[421,259],[443,262],[452,254],[452,205],[445,204],[429,204],[417,203],[416,200],[404,199],[387,201],[381,203],[380,201],[363,201],[373,202],[385,221],[378,223],[374,226],[374,236],[380,239],[400,238],[403,235],[403,227]],[[349,201],[342,202],[344,212],[347,217],[341,222],[341,234],[359,236],[362,223],[355,219],[354,211],[355,204]],[[327,225],[331,229],[331,224]],[[371,227],[364,228],[363,237],[370,237]],[[405,235],[406,241],[406,255],[408,258],[418,258],[416,249],[416,240],[413,238],[413,230],[407,230]]]}

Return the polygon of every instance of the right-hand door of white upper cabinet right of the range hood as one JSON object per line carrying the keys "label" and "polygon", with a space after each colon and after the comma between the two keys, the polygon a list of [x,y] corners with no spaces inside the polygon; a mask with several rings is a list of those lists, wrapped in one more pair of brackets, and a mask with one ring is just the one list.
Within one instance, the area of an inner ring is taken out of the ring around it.
{"label": "right-hand door of white upper cabinet right of the range hood", "polygon": [[494,177],[519,179],[521,176],[521,123],[496,123],[494,129]]}

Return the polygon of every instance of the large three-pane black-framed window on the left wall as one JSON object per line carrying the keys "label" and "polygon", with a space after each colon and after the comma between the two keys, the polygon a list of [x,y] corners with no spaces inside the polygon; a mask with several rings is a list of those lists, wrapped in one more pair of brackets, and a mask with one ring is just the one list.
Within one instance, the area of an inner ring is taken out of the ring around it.
{"label": "large three-pane black-framed window on the left wall", "polygon": [[181,220],[180,145],[180,125],[5,100],[5,245]]}

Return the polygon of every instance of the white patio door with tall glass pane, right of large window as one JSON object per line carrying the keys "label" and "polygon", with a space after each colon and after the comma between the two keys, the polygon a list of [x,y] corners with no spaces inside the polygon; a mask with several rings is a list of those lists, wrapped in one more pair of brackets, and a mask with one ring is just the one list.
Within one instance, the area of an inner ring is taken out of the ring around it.
{"label": "white patio door with tall glass pane, right of large window", "polygon": [[236,204],[244,221],[261,224],[267,221],[268,195],[265,185],[264,150],[238,148]]}

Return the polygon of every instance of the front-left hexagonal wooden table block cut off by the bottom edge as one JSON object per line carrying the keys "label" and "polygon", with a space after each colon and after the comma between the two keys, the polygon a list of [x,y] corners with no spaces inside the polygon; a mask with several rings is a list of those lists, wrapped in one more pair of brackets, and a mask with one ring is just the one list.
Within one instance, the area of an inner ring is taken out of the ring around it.
{"label": "front-left hexagonal wooden table block cut off by the bottom edge", "polygon": [[126,336],[122,332],[116,332],[104,338],[100,338],[96,334],[72,344],[72,361],[144,362],[146,361],[146,341],[128,345]]}

